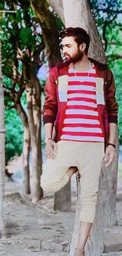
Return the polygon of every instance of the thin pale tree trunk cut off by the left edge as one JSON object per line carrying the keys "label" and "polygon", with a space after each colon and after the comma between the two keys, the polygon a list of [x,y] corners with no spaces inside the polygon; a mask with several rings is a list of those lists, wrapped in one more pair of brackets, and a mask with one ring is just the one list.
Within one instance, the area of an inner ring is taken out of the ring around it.
{"label": "thin pale tree trunk cut off by the left edge", "polygon": [[2,62],[1,62],[1,42],[0,42],[0,236],[4,233],[3,221],[3,195],[5,176],[5,117],[4,117],[4,94],[2,87]]}

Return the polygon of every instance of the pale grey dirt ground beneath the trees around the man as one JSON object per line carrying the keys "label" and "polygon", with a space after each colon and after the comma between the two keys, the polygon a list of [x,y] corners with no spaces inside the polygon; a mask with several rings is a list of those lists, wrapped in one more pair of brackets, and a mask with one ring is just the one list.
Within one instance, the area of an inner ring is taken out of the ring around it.
{"label": "pale grey dirt ground beneath the trees around the man", "polygon": [[[67,243],[62,244],[62,248],[65,248],[62,250],[66,250],[72,236],[76,210],[75,176],[72,178],[71,213],[54,212],[54,196],[52,194],[45,195],[38,206],[33,206],[30,196],[21,198],[19,190],[20,184],[6,183],[4,199],[6,237],[0,239],[0,256],[67,256],[68,253],[65,251],[55,250],[54,252],[53,248],[59,249],[61,241],[65,241]],[[122,178],[118,182],[116,211],[117,222],[122,225]],[[49,239],[54,240],[50,252],[47,250],[47,240]],[[59,245],[58,240],[60,241]],[[40,250],[40,243],[42,250]]]}

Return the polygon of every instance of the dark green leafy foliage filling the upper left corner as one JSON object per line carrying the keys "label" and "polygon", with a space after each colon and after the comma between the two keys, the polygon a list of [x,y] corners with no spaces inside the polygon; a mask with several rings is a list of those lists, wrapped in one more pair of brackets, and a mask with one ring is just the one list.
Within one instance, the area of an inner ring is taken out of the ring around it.
{"label": "dark green leafy foliage filling the upper left corner", "polygon": [[[39,54],[43,36],[39,23],[31,10],[30,2],[1,1],[0,9],[13,9],[17,13],[3,13],[0,19],[0,37],[2,39],[2,72],[10,77],[13,64],[22,67],[22,54],[28,49],[31,61],[36,62],[35,72],[39,69]],[[20,50],[20,51],[18,51]],[[43,49],[42,49],[43,50]],[[36,55],[36,59],[32,55]]]}

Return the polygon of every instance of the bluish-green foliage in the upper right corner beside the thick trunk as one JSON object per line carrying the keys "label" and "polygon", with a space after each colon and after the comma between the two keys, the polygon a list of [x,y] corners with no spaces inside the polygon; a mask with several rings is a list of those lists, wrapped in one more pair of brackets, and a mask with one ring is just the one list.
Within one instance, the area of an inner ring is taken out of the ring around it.
{"label": "bluish-green foliage in the upper right corner beside the thick trunk", "polygon": [[[116,50],[120,50],[121,46],[121,13],[122,1],[118,0],[89,0],[94,18],[98,26],[98,32],[102,38],[102,42],[110,57],[117,54]],[[115,58],[116,59],[116,58]]]}

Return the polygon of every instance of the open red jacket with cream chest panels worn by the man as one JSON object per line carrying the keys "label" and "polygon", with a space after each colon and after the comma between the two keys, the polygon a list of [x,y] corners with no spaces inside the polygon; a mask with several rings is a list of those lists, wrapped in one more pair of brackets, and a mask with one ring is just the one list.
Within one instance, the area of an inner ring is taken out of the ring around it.
{"label": "open red jacket with cream chest panels worn by the man", "polygon": [[[109,123],[117,124],[118,106],[115,98],[115,83],[113,73],[107,65],[102,65],[98,61],[90,59],[96,66],[96,97],[98,105],[98,117],[105,135],[105,142],[109,138]],[[54,141],[61,137],[61,130],[65,119],[65,109],[67,105],[68,87],[68,65],[61,64],[55,66],[50,71],[50,77],[46,81],[46,98],[43,106],[43,122],[54,124]],[[61,99],[61,93],[65,99]],[[63,101],[62,101],[63,100]]]}

